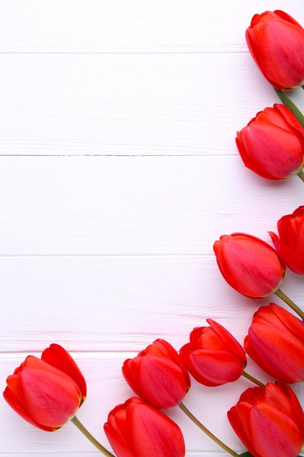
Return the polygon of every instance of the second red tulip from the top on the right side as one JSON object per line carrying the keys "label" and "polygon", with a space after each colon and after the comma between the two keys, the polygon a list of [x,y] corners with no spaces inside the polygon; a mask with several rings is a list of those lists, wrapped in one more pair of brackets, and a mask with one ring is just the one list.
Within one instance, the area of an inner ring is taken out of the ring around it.
{"label": "second red tulip from the top on the right side", "polygon": [[244,165],[263,178],[282,180],[303,168],[304,128],[281,104],[260,111],[236,134]]}

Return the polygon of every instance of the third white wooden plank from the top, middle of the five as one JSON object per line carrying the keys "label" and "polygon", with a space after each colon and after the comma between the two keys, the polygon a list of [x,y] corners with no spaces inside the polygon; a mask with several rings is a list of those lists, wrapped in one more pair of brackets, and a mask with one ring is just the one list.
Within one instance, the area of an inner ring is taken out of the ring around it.
{"label": "third white wooden plank from the top, middle of the five", "polygon": [[302,203],[297,176],[239,157],[2,157],[0,255],[211,254],[223,232],[270,239]]}

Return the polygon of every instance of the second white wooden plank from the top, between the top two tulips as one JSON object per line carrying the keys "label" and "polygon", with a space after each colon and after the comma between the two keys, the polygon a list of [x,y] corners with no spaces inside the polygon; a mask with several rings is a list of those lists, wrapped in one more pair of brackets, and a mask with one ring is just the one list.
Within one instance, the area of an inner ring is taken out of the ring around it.
{"label": "second white wooden plank from the top, between the top two tulips", "polygon": [[[236,155],[236,130],[279,101],[249,54],[0,63],[3,155]],[[295,98],[304,107],[301,89]]]}

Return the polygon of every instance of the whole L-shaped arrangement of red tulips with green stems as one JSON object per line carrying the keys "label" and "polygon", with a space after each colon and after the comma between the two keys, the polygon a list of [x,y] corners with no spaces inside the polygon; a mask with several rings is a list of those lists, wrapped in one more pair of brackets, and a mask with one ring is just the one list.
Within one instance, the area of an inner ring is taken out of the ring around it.
{"label": "whole L-shaped arrangement of red tulips with green stems", "polygon": [[[246,38],[256,64],[277,91],[304,85],[304,30],[293,18],[282,11],[255,15]],[[236,143],[245,165],[259,175],[281,180],[298,174],[303,179],[304,124],[284,97],[293,112],[283,105],[266,108],[237,134]],[[237,292],[256,300],[274,293],[301,319],[270,303],[255,312],[244,348],[228,330],[207,319],[209,326],[193,329],[179,353],[167,341],[156,340],[126,360],[122,373],[137,397],[116,406],[104,424],[118,457],[184,457],[180,428],[160,411],[175,406],[227,453],[238,455],[184,405],[189,373],[210,387],[241,375],[257,384],[228,411],[228,420],[248,449],[243,456],[298,456],[304,446],[304,413],[288,384],[304,382],[304,312],[280,286],[286,265],[304,274],[304,206],[280,219],[278,232],[279,236],[270,232],[275,249],[261,239],[234,233],[220,237],[214,252],[221,274]],[[274,384],[264,385],[244,371],[245,351],[277,380]],[[78,366],[54,344],[41,359],[28,356],[7,378],[4,391],[9,405],[34,426],[55,431],[70,420],[101,453],[113,456],[76,417],[85,396]]]}

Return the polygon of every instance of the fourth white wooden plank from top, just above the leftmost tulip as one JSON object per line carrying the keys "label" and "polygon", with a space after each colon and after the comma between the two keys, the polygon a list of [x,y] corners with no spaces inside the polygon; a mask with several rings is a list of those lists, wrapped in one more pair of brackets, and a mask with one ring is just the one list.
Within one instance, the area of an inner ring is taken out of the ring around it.
{"label": "fourth white wooden plank from top, just above the leftmost tulip", "polygon": [[[304,309],[303,278],[282,289]],[[2,351],[140,350],[156,338],[180,348],[211,317],[241,342],[255,302],[225,283],[214,257],[1,257]]]}

